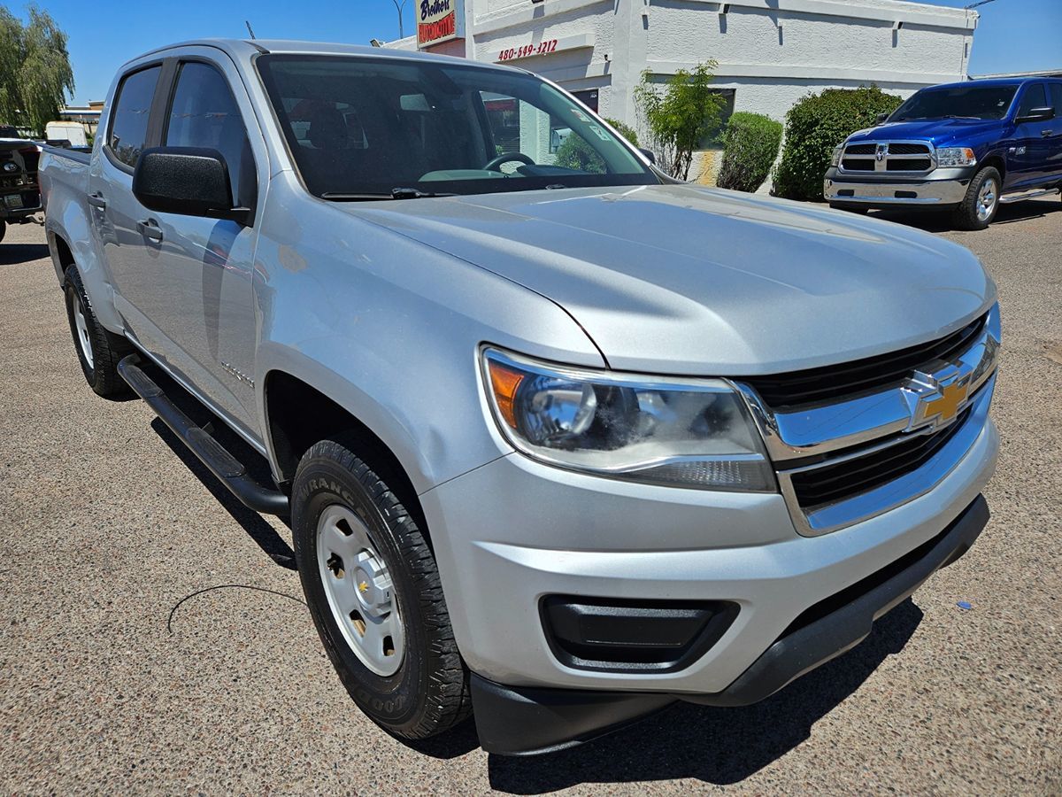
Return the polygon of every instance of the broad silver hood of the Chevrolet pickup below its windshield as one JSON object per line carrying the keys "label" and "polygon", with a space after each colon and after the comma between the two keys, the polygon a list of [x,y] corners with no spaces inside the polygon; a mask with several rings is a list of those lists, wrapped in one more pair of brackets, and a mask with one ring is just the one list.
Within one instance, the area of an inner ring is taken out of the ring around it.
{"label": "broad silver hood of the Chevrolet pickup below its windshield", "polygon": [[995,287],[967,250],[821,206],[686,185],[341,205],[549,298],[610,367],[748,375],[957,329]]}

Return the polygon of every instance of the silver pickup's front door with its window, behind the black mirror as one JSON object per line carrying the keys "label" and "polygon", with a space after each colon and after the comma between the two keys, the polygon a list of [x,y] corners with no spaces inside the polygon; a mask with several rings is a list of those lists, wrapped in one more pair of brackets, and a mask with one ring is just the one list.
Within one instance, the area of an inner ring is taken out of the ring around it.
{"label": "silver pickup's front door with its window, behind the black mirror", "polygon": [[[259,199],[264,200],[259,193],[264,194],[268,184],[264,143],[250,98],[226,55],[209,48],[181,51],[160,141],[165,147],[220,152],[228,167],[234,206],[259,209]],[[155,290],[172,300],[156,309],[158,326],[179,352],[188,378],[250,430],[255,406],[254,222],[165,213],[153,214],[153,220],[162,239]]]}

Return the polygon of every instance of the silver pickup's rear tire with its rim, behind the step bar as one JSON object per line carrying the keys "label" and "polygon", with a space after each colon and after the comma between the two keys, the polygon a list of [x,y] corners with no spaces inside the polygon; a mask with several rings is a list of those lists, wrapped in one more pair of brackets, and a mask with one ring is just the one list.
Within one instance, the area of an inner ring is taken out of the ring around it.
{"label": "silver pickup's rear tire with its rim, behind the step bar", "polygon": [[88,386],[104,398],[129,395],[129,385],[118,373],[118,361],[133,347],[123,337],[100,324],[76,266],[67,268],[64,291],[70,335]]}

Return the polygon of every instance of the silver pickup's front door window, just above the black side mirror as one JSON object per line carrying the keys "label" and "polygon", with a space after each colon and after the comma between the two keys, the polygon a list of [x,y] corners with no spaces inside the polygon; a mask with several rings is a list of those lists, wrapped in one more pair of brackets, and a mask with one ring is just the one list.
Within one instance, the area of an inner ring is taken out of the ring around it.
{"label": "silver pickup's front door window, just above the black side mirror", "polygon": [[254,206],[256,176],[247,130],[228,81],[217,68],[198,61],[181,65],[164,141],[167,147],[220,152],[228,167],[234,206]]}

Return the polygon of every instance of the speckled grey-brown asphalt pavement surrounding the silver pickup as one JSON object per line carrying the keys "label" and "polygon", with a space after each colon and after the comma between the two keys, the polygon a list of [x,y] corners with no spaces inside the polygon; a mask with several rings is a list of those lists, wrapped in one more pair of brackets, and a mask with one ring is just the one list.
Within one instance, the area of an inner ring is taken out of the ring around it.
{"label": "speckled grey-brown asphalt pavement surrounding the silver pickup", "polygon": [[[1062,793],[1062,202],[953,233],[999,286],[993,518],[857,648],[580,748],[406,746],[349,701],[288,528],[85,385],[37,225],[0,243],[0,792]],[[895,265],[902,272],[904,264]],[[967,603],[971,608],[958,606]]]}

